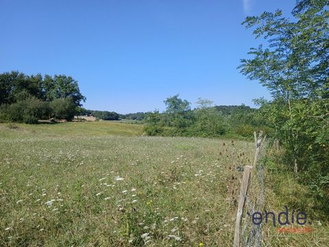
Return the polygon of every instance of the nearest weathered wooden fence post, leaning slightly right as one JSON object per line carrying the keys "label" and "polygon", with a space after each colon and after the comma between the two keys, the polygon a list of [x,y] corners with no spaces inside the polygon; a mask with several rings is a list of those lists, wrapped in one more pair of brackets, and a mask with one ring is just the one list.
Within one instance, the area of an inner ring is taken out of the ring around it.
{"label": "nearest weathered wooden fence post, leaning slightly right", "polygon": [[243,206],[245,205],[245,196],[247,195],[247,189],[249,185],[249,176],[252,172],[252,166],[246,165],[243,172],[243,178],[241,183],[240,198],[238,204],[238,211],[236,213],[235,231],[234,231],[234,247],[240,246],[240,231],[241,220],[243,215]]}

